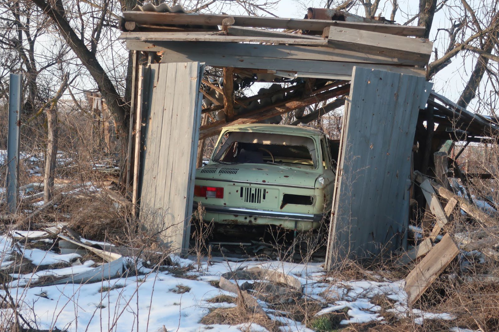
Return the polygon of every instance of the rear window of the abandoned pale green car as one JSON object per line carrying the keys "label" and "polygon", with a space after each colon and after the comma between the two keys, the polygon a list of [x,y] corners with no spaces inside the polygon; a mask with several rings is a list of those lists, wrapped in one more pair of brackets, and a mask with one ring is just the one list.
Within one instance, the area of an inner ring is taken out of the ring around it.
{"label": "rear window of the abandoned pale green car", "polygon": [[227,132],[215,149],[213,161],[227,164],[274,164],[317,168],[314,140],[303,136]]}

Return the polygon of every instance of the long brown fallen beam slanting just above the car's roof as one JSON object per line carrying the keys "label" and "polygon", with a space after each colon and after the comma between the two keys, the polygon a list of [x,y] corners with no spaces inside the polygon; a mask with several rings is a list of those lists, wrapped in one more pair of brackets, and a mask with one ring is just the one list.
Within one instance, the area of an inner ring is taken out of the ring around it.
{"label": "long brown fallen beam slanting just above the car's roof", "polygon": [[315,103],[319,103],[324,100],[328,100],[337,96],[341,96],[345,93],[348,93],[350,89],[350,84],[346,84],[340,87],[336,87],[329,91],[317,93],[308,97],[296,97],[289,100],[284,100],[282,102],[278,102],[272,105],[265,106],[259,110],[255,110],[252,112],[248,112],[246,114],[240,115],[236,120],[230,123],[223,123],[222,121],[217,121],[215,123],[209,124],[208,126],[202,127],[200,129],[200,138],[207,138],[220,133],[222,128],[237,125],[237,124],[245,124],[245,123],[255,123],[261,120],[265,120],[268,118],[275,117],[280,114],[284,114],[290,112],[294,109],[300,107],[306,107],[308,105],[312,105]]}

